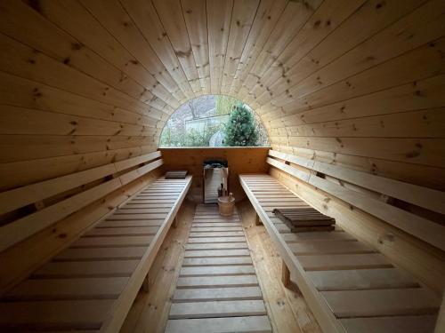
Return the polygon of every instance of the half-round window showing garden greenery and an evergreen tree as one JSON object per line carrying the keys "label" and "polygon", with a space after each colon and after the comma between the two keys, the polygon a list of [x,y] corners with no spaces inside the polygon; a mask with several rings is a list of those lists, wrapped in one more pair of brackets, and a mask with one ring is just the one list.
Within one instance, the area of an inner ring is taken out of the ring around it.
{"label": "half-round window showing garden greenery and an evergreen tree", "polygon": [[182,104],[167,121],[160,147],[267,147],[260,117],[238,99],[205,95]]}

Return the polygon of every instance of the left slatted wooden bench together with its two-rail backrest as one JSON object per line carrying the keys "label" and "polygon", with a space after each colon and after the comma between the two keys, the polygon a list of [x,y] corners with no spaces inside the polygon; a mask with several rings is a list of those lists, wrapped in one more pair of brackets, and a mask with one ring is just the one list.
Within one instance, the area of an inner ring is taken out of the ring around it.
{"label": "left slatted wooden bench together with its two-rail backrest", "polygon": [[[11,211],[68,191],[79,183],[103,179],[85,191],[2,226],[2,249],[158,168],[162,160],[147,163],[158,157],[160,153],[155,152],[24,186],[10,191],[10,196],[1,194],[7,202],[0,201],[0,210]],[[0,330],[117,332],[139,289],[148,287],[150,266],[190,184],[189,176],[183,180],[158,178],[144,186],[28,279],[4,292]]]}

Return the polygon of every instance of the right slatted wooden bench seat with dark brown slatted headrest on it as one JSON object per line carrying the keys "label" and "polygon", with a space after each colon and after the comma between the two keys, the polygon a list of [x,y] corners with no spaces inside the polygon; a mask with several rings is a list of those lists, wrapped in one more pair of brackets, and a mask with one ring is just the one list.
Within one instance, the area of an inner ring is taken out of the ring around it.
{"label": "right slatted wooden bench seat with dark brown slatted headrest on it", "polygon": [[[281,164],[281,170],[291,168]],[[283,259],[283,282],[295,280],[323,331],[433,331],[441,300],[430,290],[338,226],[290,233],[272,210],[307,203],[269,175],[239,180]]]}

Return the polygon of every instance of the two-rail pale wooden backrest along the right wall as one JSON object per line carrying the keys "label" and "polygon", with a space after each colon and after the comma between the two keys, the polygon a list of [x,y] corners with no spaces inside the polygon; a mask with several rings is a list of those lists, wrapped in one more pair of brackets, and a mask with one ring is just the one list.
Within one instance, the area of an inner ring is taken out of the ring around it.
{"label": "two-rail pale wooden backrest along the right wall", "polygon": [[[269,151],[267,163],[400,228],[408,234],[414,235],[424,242],[445,250],[445,226],[417,216],[408,210],[402,210],[390,204],[388,200],[396,198],[426,210],[445,214],[443,205],[445,193],[441,191],[274,150]],[[357,187],[351,188],[345,186],[346,184]],[[372,191],[379,195],[370,195],[366,192],[367,190],[369,193]]]}

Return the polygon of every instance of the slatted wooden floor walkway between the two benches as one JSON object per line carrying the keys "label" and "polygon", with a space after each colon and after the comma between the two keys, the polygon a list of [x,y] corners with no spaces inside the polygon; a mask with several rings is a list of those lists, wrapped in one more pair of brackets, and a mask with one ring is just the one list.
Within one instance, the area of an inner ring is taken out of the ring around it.
{"label": "slatted wooden floor walkway between the two benches", "polygon": [[166,332],[271,332],[238,213],[198,205]]}

